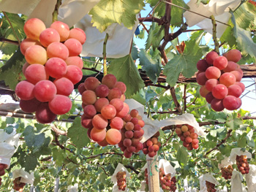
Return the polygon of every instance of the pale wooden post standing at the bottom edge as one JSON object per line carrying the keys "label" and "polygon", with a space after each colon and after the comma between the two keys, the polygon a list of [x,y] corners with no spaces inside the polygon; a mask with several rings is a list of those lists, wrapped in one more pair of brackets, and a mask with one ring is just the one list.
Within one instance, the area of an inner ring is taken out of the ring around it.
{"label": "pale wooden post standing at the bottom edge", "polygon": [[150,158],[147,155],[148,164],[148,190],[149,192],[159,192],[159,169],[157,155],[154,158]]}

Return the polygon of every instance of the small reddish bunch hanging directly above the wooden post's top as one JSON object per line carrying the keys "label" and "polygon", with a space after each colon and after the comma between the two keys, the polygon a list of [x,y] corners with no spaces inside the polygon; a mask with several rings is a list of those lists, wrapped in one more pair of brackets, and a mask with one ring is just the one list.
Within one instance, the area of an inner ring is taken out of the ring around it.
{"label": "small reddish bunch hanging directly above the wooden post's top", "polygon": [[161,143],[158,141],[159,135],[159,131],[157,131],[156,134],[143,143],[142,151],[145,155],[148,154],[151,158],[153,158],[154,155],[157,155],[157,151],[159,150],[159,147],[161,147]]}

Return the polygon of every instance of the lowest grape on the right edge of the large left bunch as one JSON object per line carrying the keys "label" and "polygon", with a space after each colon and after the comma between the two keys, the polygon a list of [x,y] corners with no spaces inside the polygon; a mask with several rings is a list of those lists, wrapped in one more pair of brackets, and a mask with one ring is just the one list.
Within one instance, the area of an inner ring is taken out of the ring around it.
{"label": "lowest grape on the right edge of the large left bunch", "polygon": [[49,102],[50,110],[56,115],[64,115],[71,110],[71,107],[72,101],[69,99],[69,97],[63,95],[56,95]]}

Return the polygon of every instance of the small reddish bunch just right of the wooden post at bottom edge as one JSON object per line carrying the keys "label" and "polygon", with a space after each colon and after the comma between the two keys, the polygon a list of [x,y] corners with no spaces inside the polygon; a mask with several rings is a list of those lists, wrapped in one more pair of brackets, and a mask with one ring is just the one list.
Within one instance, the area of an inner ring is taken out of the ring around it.
{"label": "small reddish bunch just right of the wooden post at bottom edge", "polygon": [[165,174],[165,170],[163,168],[159,169],[159,180],[164,191],[176,191],[176,177],[171,177],[170,173]]}

